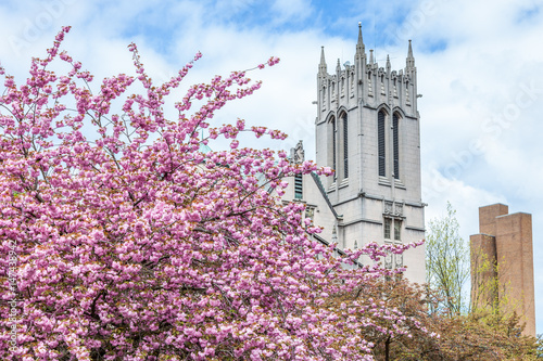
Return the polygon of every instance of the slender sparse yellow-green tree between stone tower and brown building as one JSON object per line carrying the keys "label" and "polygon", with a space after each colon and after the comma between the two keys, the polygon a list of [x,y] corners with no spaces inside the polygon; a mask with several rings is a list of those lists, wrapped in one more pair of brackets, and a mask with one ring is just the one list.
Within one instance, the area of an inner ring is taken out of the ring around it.
{"label": "slender sparse yellow-green tree between stone tower and brown building", "polygon": [[426,280],[442,299],[433,311],[446,309],[451,314],[466,309],[463,291],[469,279],[469,249],[458,234],[455,215],[447,202],[446,216],[430,221],[426,237]]}

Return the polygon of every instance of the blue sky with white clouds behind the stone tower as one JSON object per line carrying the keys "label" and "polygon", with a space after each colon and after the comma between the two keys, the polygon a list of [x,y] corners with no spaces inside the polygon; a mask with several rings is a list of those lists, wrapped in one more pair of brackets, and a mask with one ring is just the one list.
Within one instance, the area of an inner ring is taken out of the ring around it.
{"label": "blue sky with white clouds behind the stone tower", "polygon": [[[132,72],[135,41],[151,76],[166,80],[190,61],[189,83],[281,57],[256,73],[263,88],[225,107],[237,117],[280,128],[288,149],[299,139],[313,157],[316,70],[325,46],[328,69],[353,61],[357,24],[366,49],[383,64],[405,66],[413,39],[421,115],[427,220],[457,209],[462,235],[478,232],[478,207],[506,203],[533,215],[538,330],[543,332],[543,1],[77,1],[0,3],[0,62],[21,79],[62,25],[64,49],[97,77]],[[248,140],[249,141],[249,140]]]}

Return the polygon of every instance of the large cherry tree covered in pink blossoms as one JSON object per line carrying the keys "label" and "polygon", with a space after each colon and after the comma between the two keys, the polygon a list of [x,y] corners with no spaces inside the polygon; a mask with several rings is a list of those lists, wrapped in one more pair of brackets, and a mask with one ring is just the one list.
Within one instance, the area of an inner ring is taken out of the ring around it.
{"label": "large cherry tree covered in pink blossoms", "polygon": [[[409,332],[397,309],[344,295],[392,276],[380,257],[413,245],[334,257],[304,206],[274,195],[282,177],[331,170],[238,140],[280,131],[212,124],[260,88],[248,72],[190,87],[168,119],[166,95],[200,54],[154,85],[130,44],[136,75],[97,91],[60,50],[68,31],[24,83],[0,68],[0,359],[371,360],[365,335]],[[201,151],[218,137],[230,150]],[[362,255],[374,262],[344,267]]]}

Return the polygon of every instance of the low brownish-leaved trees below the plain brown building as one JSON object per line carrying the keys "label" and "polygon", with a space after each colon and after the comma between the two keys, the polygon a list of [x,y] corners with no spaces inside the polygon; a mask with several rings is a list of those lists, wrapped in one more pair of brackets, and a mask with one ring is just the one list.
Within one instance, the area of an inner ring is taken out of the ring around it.
{"label": "low brownish-leaved trees below the plain brown building", "polygon": [[[400,312],[407,318],[401,325],[406,331],[403,334],[392,337],[387,333],[367,333],[366,339],[375,345],[372,353],[376,360],[538,359],[538,348],[541,346],[535,338],[521,336],[519,319],[516,315],[481,318],[472,314],[429,312],[440,302],[437,293],[409,284],[401,278],[375,282],[371,286],[365,285],[364,298],[382,302],[389,314]],[[351,294],[352,296],[354,294]],[[400,326],[394,318],[375,318],[374,322],[377,326],[388,330]]]}

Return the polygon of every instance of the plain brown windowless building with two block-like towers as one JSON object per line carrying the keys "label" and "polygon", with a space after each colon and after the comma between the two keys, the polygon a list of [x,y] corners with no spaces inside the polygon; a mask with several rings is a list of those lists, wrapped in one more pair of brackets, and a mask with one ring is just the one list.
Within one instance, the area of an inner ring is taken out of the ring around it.
{"label": "plain brown windowless building with two block-like towers", "polygon": [[535,336],[532,216],[508,211],[503,204],[479,208],[479,234],[470,236],[471,305],[517,312],[523,333]]}

